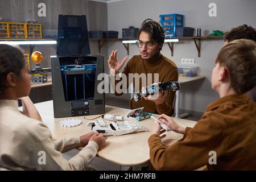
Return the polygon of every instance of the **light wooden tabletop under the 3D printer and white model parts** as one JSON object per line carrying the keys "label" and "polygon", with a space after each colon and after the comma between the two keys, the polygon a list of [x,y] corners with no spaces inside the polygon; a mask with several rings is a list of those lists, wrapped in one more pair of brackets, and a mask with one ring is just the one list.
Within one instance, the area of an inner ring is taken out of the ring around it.
{"label": "light wooden tabletop under the 3D printer and white model parts", "polygon": [[[53,102],[41,102],[35,104],[42,116],[43,122],[49,127],[54,139],[79,137],[82,134],[88,133],[90,127],[86,126],[89,120],[84,117],[72,117],[79,118],[82,121],[82,125],[72,128],[65,128],[59,125],[59,122],[64,118],[53,118]],[[114,106],[106,106],[106,113],[119,114],[125,116],[129,110],[118,108]],[[157,116],[157,115],[155,115]],[[97,115],[88,115],[86,118],[95,118]],[[193,127],[196,122],[189,121],[187,119],[174,118],[177,123],[182,126]],[[97,156],[106,159],[110,162],[119,164],[120,166],[141,167],[149,162],[149,147],[148,137],[151,135],[152,127],[154,126],[154,120],[145,119],[140,122],[144,127],[147,127],[148,132],[126,134],[118,137],[108,137],[106,140],[106,147],[101,151],[98,151]],[[176,134],[173,131],[167,133],[167,137],[163,139],[163,143],[170,145],[177,140],[181,139],[183,135]],[[138,168],[135,168],[138,169]]]}

